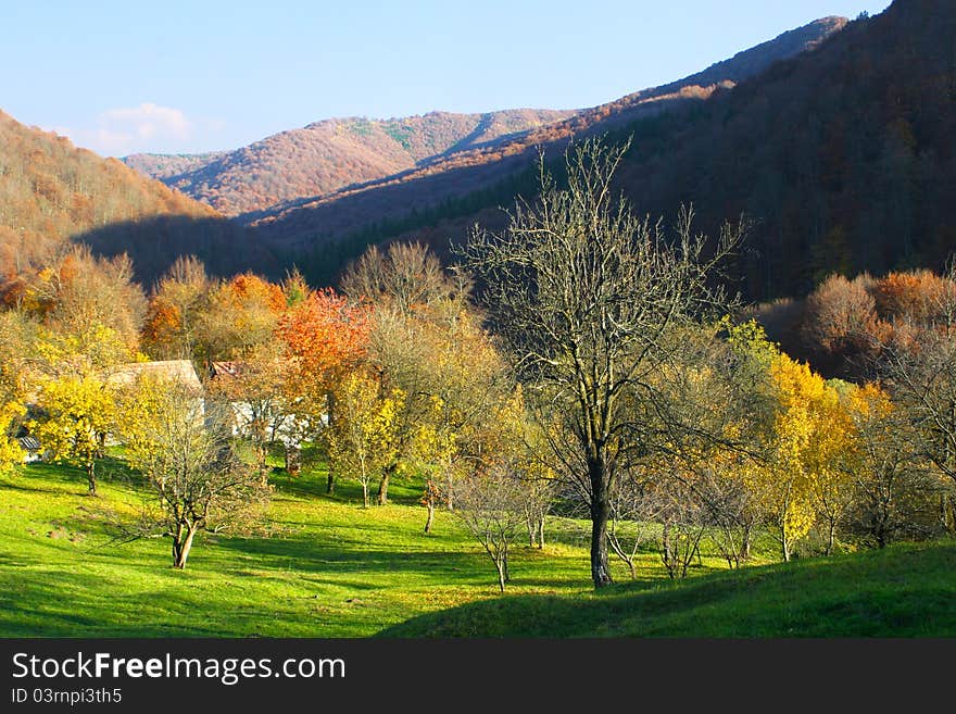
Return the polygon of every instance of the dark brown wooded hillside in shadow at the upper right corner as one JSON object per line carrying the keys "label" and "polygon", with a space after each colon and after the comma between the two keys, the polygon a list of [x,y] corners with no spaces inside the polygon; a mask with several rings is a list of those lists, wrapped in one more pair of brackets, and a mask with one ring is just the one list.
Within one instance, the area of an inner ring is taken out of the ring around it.
{"label": "dark brown wooded hillside in shadow at the upper right corner", "polygon": [[735,272],[753,299],[941,268],[956,250],[954,38],[952,0],[896,0],[647,137],[620,184],[643,211],[692,201],[708,231],[749,216]]}

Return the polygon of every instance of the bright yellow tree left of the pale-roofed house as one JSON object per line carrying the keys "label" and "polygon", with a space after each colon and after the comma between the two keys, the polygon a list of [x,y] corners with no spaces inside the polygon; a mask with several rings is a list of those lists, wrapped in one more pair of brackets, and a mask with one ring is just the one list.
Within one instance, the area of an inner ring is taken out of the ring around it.
{"label": "bright yellow tree left of the pale-roofed house", "polygon": [[116,423],[115,394],[95,376],[64,375],[43,384],[39,403],[45,417],[32,423],[32,433],[54,461],[86,471],[89,494],[96,496],[97,458]]}

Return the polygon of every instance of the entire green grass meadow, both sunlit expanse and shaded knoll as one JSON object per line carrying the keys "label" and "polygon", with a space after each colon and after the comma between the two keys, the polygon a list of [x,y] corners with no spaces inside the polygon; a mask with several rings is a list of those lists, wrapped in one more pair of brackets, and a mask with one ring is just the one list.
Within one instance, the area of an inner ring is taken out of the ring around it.
{"label": "entire green grass meadow, both sunlit expanse and shaded knoll", "polygon": [[363,510],[354,487],[326,496],[324,473],[276,471],[272,537],[204,535],[175,571],[166,539],[110,544],[91,514],[131,511],[138,494],[121,462],[103,472],[99,499],[65,466],[0,478],[0,637],[956,634],[952,543],[740,573],[705,556],[683,584],[649,552],[639,580],[594,593],[587,524],[556,518],[543,551],[515,547],[501,597],[451,514],[422,531],[419,485],[398,483],[395,503]]}

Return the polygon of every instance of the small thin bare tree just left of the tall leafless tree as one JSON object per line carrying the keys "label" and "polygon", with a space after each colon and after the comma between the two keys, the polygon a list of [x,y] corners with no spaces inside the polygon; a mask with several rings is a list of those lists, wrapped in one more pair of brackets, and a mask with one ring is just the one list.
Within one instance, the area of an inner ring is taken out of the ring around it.
{"label": "small thin bare tree just left of the tall leafless tree", "polygon": [[511,579],[508,550],[525,521],[524,485],[503,466],[479,471],[455,484],[455,515],[494,563],[504,592]]}

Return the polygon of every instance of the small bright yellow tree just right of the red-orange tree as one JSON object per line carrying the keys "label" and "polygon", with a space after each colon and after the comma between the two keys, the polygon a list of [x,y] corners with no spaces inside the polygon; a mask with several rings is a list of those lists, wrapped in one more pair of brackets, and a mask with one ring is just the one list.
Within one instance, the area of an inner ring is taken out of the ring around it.
{"label": "small bright yellow tree just right of the red-orange tree", "polygon": [[397,414],[404,394],[382,393],[378,383],[362,372],[347,375],[336,388],[336,419],[328,433],[329,467],[362,485],[368,508],[368,485],[394,459]]}

